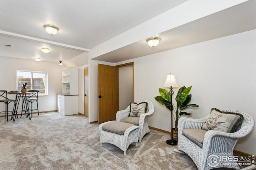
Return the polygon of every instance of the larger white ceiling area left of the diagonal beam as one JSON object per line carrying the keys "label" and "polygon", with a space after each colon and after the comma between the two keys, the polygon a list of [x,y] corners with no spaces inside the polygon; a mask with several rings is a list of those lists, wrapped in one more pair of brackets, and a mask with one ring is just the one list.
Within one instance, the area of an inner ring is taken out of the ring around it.
{"label": "larger white ceiling area left of the diagonal beam", "polygon": [[[68,61],[82,51],[90,51],[185,1],[1,0],[1,56],[21,59],[41,57],[42,61],[49,62]],[[43,27],[46,24],[60,30],[56,35],[49,35]],[[51,42],[42,43],[46,41]],[[12,48],[4,47],[4,44],[12,45]],[[50,53],[42,53],[41,47],[49,47]]]}

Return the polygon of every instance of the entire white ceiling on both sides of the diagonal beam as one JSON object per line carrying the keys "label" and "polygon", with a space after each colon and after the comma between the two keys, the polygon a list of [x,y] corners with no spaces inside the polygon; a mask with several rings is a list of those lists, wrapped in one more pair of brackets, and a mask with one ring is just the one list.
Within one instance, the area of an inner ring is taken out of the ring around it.
{"label": "entire white ceiling on both sides of the diagonal beam", "polygon": [[[69,61],[186,0],[0,0],[0,55]],[[161,51],[256,29],[256,1],[250,0],[163,33],[150,48],[146,39],[94,59],[117,63]],[[49,35],[43,25],[60,31]],[[12,47],[4,47],[4,44]],[[40,51],[50,48],[50,53]]]}

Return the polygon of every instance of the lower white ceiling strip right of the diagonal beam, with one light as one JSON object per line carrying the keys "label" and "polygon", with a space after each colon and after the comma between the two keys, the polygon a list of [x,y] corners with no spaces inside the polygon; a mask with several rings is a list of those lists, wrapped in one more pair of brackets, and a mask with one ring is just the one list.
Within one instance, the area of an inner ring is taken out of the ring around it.
{"label": "lower white ceiling strip right of the diagonal beam, with one light", "polygon": [[[196,21],[170,29],[157,36],[158,46],[146,45],[146,39],[95,57],[94,60],[118,63],[170,49],[184,47],[236,33],[256,29],[256,1],[251,0]],[[256,37],[255,37],[256,38]]]}

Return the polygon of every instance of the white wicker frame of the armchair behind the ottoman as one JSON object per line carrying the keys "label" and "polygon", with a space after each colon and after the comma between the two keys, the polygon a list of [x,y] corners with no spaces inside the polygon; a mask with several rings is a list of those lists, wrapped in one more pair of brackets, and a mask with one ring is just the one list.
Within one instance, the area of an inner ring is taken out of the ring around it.
{"label": "white wicker frame of the armchair behind the ottoman", "polygon": [[[137,100],[135,101],[137,104],[141,102],[147,102],[148,103],[148,108],[147,108],[147,113],[143,113],[140,115],[140,121],[139,121],[139,143],[141,142],[142,138],[146,133],[150,133],[150,130],[148,128],[148,116],[152,115],[154,113],[154,105],[152,102],[148,100]],[[125,110],[120,110],[116,112],[116,121],[120,121],[121,119],[128,117],[130,114],[130,105],[125,109]]]}

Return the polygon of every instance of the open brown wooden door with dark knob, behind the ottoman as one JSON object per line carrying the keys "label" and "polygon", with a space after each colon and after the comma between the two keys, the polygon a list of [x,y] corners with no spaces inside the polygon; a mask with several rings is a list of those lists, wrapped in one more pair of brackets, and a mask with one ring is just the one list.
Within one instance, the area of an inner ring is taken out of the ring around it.
{"label": "open brown wooden door with dark knob, behind the ottoman", "polygon": [[98,123],[116,119],[118,68],[98,64]]}

